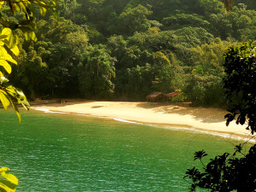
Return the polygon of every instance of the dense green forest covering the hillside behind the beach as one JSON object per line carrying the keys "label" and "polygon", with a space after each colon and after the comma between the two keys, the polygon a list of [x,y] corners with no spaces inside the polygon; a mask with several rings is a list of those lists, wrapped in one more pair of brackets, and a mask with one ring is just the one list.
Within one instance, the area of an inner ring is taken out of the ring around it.
{"label": "dense green forest covering the hillside behind the beach", "polygon": [[[256,1],[61,0],[60,17],[37,18],[9,79],[33,99],[173,101],[223,106],[224,52],[256,37]],[[4,10],[2,10],[4,12]],[[17,18],[10,18],[17,20]]]}

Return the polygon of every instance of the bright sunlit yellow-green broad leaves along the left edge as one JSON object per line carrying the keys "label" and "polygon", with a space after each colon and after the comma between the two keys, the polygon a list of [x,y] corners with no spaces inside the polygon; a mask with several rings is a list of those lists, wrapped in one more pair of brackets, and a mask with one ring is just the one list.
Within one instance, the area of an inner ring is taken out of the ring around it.
{"label": "bright sunlit yellow-green broad leaves along the left edge", "polygon": [[[15,109],[20,121],[20,111],[18,106],[21,104],[26,110],[30,105],[22,90],[9,84],[6,78],[12,72],[12,65],[18,65],[14,56],[20,54],[20,37],[26,40],[36,41],[35,15],[57,15],[57,0],[0,0],[0,24],[3,28],[0,34],[0,101],[3,108],[7,110],[9,106]],[[3,11],[8,10],[9,13]],[[7,16],[23,15],[19,21],[10,20]],[[0,191],[13,192],[18,185],[18,179],[9,173],[9,168],[0,168]]]}

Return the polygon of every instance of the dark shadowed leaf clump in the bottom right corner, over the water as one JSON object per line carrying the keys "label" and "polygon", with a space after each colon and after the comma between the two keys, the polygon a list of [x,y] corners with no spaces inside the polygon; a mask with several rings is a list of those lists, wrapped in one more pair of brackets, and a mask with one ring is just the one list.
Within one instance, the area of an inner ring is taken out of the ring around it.
{"label": "dark shadowed leaf clump in the bottom right corner, over the water", "polygon": [[[245,156],[241,153],[241,145],[236,146],[235,149],[233,155],[224,153],[211,159],[207,166],[204,166],[203,171],[195,167],[188,169],[184,178],[192,180],[190,191],[195,191],[196,188],[209,189],[209,191],[254,191],[256,145],[253,145]],[[236,154],[243,157],[238,158]]]}

